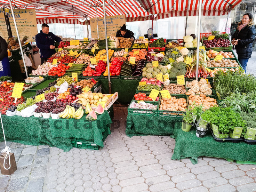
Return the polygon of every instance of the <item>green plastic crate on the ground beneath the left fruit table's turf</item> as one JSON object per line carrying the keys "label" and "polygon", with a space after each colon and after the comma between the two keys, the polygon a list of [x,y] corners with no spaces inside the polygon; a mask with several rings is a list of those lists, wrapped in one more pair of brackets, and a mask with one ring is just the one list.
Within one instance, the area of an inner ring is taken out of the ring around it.
{"label": "green plastic crate on the ground beneath the left fruit table's turf", "polygon": [[[102,141],[105,141],[106,138],[108,137],[108,127],[106,128],[106,130],[104,132],[102,132],[102,136],[103,139]],[[77,139],[75,137],[71,137],[71,144],[73,147],[75,148],[79,148],[79,149],[92,149],[92,150],[99,150],[100,146],[94,144],[94,140],[86,140],[83,138]]]}

